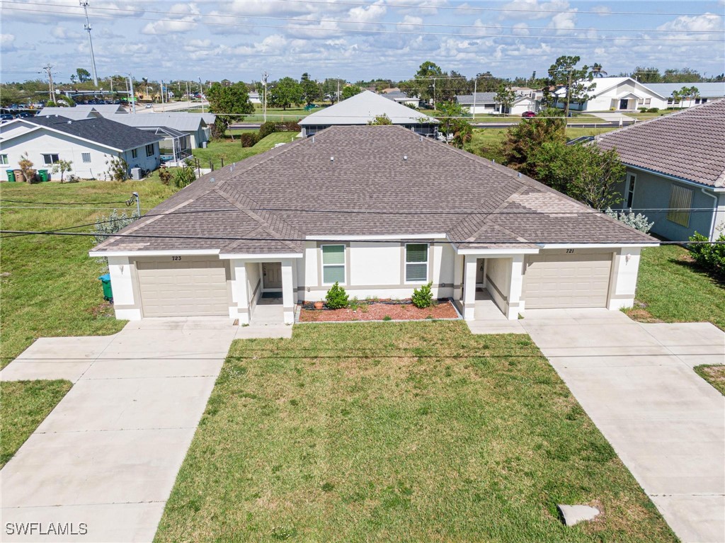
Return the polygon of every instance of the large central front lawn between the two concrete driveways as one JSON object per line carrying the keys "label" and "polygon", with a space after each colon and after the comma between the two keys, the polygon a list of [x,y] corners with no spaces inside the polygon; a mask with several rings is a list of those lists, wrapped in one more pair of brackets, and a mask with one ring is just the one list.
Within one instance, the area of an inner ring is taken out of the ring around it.
{"label": "large central front lawn between the two concrete driveways", "polygon": [[155,540],[280,539],[676,541],[529,337],[460,321],[234,342]]}

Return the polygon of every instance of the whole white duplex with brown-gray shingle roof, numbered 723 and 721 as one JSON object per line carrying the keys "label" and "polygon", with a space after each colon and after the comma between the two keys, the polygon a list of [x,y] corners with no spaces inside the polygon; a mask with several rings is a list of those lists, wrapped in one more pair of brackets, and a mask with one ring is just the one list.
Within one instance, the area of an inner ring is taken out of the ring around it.
{"label": "whole white duplex with brown-gray shingle roof, numbered 723 and 721", "polygon": [[533,308],[618,310],[634,302],[641,247],[657,244],[401,126],[333,126],[216,170],[120,234],[91,251],[108,258],[117,318],[241,324],[260,297],[278,297],[279,320],[292,323],[295,304],[336,282],[359,299],[408,298],[431,282],[467,320],[486,291],[512,320]]}

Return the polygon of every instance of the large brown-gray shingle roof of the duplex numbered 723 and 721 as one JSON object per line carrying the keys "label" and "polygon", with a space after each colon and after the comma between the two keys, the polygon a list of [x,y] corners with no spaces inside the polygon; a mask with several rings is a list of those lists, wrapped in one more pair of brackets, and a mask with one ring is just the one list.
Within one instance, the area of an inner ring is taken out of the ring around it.
{"label": "large brown-gray shingle roof of the duplex numbered 723 and 721", "polygon": [[315,236],[434,233],[467,248],[653,242],[514,170],[390,125],[327,128],[204,175],[149,215],[94,251],[299,254]]}

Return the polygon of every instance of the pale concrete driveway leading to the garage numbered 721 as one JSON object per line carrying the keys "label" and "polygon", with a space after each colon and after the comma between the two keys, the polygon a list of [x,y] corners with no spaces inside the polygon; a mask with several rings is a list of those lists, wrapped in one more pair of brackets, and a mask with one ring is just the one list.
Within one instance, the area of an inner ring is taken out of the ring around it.
{"label": "pale concrete driveway leading to the garage numbered 721", "polygon": [[692,370],[725,363],[725,333],[607,310],[519,322],[682,542],[725,542],[725,398]]}

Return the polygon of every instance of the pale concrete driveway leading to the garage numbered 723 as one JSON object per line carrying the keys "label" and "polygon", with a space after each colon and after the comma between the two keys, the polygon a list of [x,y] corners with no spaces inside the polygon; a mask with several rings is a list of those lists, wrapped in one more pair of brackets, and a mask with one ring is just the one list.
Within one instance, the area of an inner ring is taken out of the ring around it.
{"label": "pale concrete driveway leading to the garage numbered 723", "polygon": [[[114,336],[36,341],[2,380],[73,387],[0,472],[3,542],[150,542],[238,327],[147,319]],[[79,536],[11,536],[67,523]]]}

